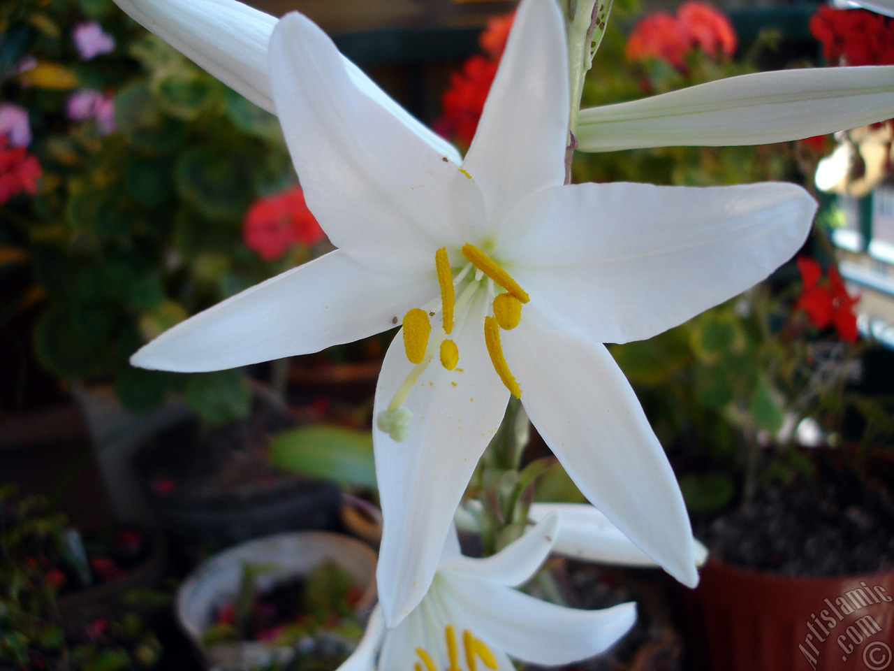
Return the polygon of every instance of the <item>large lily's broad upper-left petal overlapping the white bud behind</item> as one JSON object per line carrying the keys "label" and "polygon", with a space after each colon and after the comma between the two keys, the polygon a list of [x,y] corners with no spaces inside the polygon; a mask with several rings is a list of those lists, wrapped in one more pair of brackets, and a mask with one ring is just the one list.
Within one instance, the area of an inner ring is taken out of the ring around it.
{"label": "large lily's broad upper-left petal overlapping the white bud behind", "polygon": [[270,62],[292,160],[330,239],[376,269],[434,276],[434,251],[465,242],[458,214],[481,202],[477,185],[358,89],[306,17],[283,17]]}

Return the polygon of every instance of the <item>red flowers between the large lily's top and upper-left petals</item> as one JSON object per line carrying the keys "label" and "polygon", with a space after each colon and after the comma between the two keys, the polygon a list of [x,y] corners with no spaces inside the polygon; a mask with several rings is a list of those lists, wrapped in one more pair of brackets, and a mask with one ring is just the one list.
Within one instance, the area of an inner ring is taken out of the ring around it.
{"label": "red flowers between the large lily's top and upper-left petals", "polygon": [[486,55],[472,56],[461,72],[451,73],[450,88],[442,99],[443,116],[434,124],[434,130],[448,140],[466,146],[472,143],[514,20],[515,12],[510,12],[487,21],[487,28],[478,38]]}

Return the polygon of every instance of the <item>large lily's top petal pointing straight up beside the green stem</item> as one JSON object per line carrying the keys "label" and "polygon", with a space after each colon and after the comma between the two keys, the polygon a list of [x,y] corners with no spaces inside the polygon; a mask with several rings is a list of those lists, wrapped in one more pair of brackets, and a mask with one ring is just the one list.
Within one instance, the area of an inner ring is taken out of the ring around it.
{"label": "large lily's top petal pointing straight up beside the green stem", "polygon": [[499,225],[530,191],[565,181],[569,84],[559,6],[522,0],[463,167]]}

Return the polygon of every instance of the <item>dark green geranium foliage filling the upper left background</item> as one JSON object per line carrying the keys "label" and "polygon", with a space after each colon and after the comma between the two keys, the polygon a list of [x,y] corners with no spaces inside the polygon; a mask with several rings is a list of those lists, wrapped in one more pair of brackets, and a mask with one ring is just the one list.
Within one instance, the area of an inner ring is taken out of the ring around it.
{"label": "dark green geranium foliage filling the upper left background", "polygon": [[[88,20],[116,47],[81,61],[72,27]],[[28,110],[29,151],[44,172],[33,198],[0,206],[0,242],[21,251],[16,263],[30,277],[20,293],[4,293],[0,314],[37,301],[40,364],[63,380],[111,378],[131,410],[178,391],[208,420],[239,416],[248,392],[236,374],[190,382],[135,371],[127,358],[274,274],[245,248],[241,222],[259,196],[294,183],[277,120],[112,0],[7,3],[0,24],[0,96]],[[17,74],[30,56],[40,66]],[[112,97],[114,132],[68,117],[75,86]]]}

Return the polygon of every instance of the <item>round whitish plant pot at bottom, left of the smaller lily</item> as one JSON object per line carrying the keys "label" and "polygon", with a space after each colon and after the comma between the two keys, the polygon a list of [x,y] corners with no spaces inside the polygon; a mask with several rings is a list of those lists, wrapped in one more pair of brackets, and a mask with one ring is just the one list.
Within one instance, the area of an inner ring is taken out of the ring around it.
{"label": "round whitish plant pot at bottom, left of the smaller lily", "polygon": [[256,578],[258,589],[265,590],[277,582],[308,575],[327,559],[348,573],[361,590],[356,610],[366,616],[375,603],[376,556],[372,548],[330,531],[294,531],[250,540],[199,565],[177,590],[177,621],[209,667],[236,670],[274,661],[285,663],[293,654],[291,647],[260,641],[204,646],[202,633],[213,624],[216,610],[238,595],[244,565],[270,565],[269,571]]}

